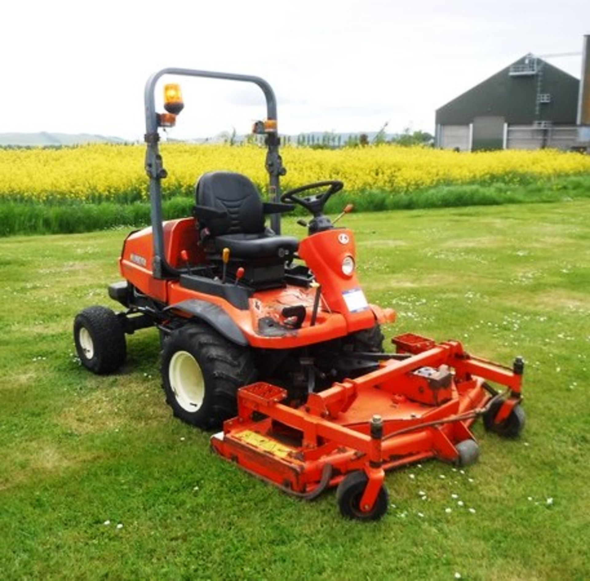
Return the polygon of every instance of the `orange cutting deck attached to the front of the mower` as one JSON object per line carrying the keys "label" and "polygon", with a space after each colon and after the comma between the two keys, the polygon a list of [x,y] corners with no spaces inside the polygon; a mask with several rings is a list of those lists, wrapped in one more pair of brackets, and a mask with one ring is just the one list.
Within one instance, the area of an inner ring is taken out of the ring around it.
{"label": "orange cutting deck attached to the front of the mower", "polygon": [[339,485],[345,516],[381,517],[384,471],[427,458],[474,462],[477,444],[469,428],[493,398],[486,380],[509,389],[506,409],[497,414],[501,421],[520,399],[522,376],[518,365],[471,357],[458,342],[435,344],[413,334],[393,342],[401,358],[310,393],[298,408],[281,403],[286,390],[270,383],[240,389],[238,416],[212,436],[212,448],[302,498]]}

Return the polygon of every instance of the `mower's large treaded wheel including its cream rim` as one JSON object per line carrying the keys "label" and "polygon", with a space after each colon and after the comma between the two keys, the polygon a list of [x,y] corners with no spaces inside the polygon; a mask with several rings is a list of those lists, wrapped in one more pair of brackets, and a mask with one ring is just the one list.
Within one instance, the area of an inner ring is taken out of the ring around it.
{"label": "mower's large treaded wheel including its cream rim", "polygon": [[186,424],[210,429],[234,417],[237,390],[254,379],[250,350],[205,324],[173,331],[163,344],[166,402]]}

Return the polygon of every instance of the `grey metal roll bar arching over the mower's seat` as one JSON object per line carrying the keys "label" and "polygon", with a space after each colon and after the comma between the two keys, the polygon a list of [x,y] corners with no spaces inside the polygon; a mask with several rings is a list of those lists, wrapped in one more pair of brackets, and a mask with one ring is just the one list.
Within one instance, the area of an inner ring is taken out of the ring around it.
{"label": "grey metal roll bar arching over the mower's seat", "polygon": [[[185,77],[204,77],[218,78],[227,81],[241,81],[245,83],[254,83],[260,87],[266,98],[267,119],[277,120],[277,100],[274,96],[273,88],[263,78],[249,75],[240,75],[232,73],[216,73],[213,71],[198,71],[190,68],[163,68],[148,78],[145,86],[145,114],[146,114],[146,134],[145,142],[147,145],[145,169],[149,176],[149,195],[150,195],[150,214],[152,216],[152,235],[153,235],[153,276],[155,278],[166,278],[167,275],[178,274],[171,265],[168,264],[164,256],[164,241],[162,227],[162,186],[160,180],[166,177],[166,170],[163,168],[162,156],[158,149],[158,114],[156,113],[155,88],[160,77],[164,75],[179,75]],[[281,156],[278,153],[280,140],[278,133],[267,133],[266,145],[266,169],[269,176],[269,191],[274,201],[280,199],[279,178],[286,173],[283,167]],[[271,215],[271,228],[280,234],[280,215]]]}

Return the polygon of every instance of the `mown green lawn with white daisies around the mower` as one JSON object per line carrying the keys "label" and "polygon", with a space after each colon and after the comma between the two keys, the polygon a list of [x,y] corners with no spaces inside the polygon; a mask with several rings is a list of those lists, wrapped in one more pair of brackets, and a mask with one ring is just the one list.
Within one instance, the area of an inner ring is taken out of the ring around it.
{"label": "mown green lawn with white daisies around the mower", "polygon": [[78,365],[73,318],[110,303],[126,232],[0,239],[0,578],[588,579],[588,214],[576,200],[343,220],[366,294],[398,312],[388,336],[527,362],[523,436],[477,424],[464,473],[390,472],[378,523],[215,457],[165,405],[155,330],[128,337],[116,375]]}

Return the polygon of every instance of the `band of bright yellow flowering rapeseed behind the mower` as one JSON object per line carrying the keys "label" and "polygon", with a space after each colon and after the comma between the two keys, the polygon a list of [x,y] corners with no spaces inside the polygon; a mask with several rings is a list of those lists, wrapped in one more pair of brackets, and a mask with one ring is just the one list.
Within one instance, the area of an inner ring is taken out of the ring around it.
{"label": "band of bright yellow flowering rapeseed behind the mower", "polygon": [[[266,150],[258,146],[162,145],[165,195],[190,194],[201,173],[244,173],[264,189]],[[0,150],[0,199],[134,201],[148,197],[142,145]],[[340,179],[352,192],[411,192],[450,183],[501,181],[590,172],[590,156],[554,150],[455,153],[391,145],[336,150],[284,147],[283,188]]]}

